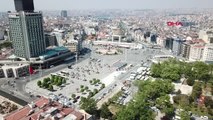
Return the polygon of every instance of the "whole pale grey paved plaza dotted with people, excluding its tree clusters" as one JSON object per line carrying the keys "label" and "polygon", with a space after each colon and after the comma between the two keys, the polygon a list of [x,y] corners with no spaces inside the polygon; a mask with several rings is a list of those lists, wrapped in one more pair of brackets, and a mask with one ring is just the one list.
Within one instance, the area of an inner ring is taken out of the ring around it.
{"label": "whole pale grey paved plaza dotted with people, excluding its tree clusters", "polygon": [[[43,80],[45,77],[50,77],[50,75],[48,75],[38,80],[28,82],[25,86],[25,90],[28,93],[30,92],[34,95],[48,96],[48,94],[54,93],[55,95],[63,94],[68,98],[70,98],[72,94],[76,94],[76,96],[87,97],[90,91],[92,92],[94,91],[94,89],[100,90],[102,83],[105,84],[105,87],[108,87],[110,89],[110,87],[113,86],[114,83],[119,84],[119,82],[117,81],[118,78],[126,80],[126,78],[129,77],[130,73],[129,71],[125,70],[118,71],[117,68],[120,64],[122,65],[127,63],[127,66],[129,64],[132,64],[137,68],[137,66],[140,66],[142,61],[146,62],[147,59],[151,59],[154,55],[163,54],[161,51],[158,50],[132,50],[121,48],[123,54],[101,55],[95,53],[95,50],[97,48],[103,47],[91,47],[92,52],[90,58],[87,58],[77,64],[74,63],[71,68],[65,68],[56,73],[52,73],[60,74],[62,71],[65,73],[69,73],[69,75],[67,76],[66,84],[63,87],[57,87],[54,85],[54,92],[51,92],[44,88],[39,88],[37,86],[37,81]],[[136,69],[135,67],[134,69]],[[101,84],[92,85],[90,81],[94,78],[99,79],[101,81]],[[122,81],[120,83],[122,83]],[[84,87],[88,87],[88,90],[86,90],[86,92],[80,91],[82,85]],[[105,94],[106,91],[108,91],[108,88],[106,88],[106,90],[102,90],[100,94],[96,94],[95,98],[97,99],[102,96],[102,94]]]}

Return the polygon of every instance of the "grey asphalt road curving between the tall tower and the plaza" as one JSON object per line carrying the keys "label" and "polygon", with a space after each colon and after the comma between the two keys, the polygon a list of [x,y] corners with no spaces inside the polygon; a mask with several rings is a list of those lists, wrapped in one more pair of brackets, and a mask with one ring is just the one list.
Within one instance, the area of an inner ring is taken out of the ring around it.
{"label": "grey asphalt road curving between the tall tower and the plaza", "polygon": [[[33,100],[35,100],[37,97],[34,95],[31,95],[31,93],[27,93],[25,92],[25,85],[27,82],[32,81],[32,80],[36,80],[39,79],[41,77],[47,76],[50,73],[54,73],[57,71],[60,71],[64,68],[66,68],[68,65],[70,65],[71,63],[79,63],[82,62],[85,59],[88,59],[90,57],[91,53],[87,53],[85,55],[81,55],[79,56],[78,61],[76,62],[74,61],[68,61],[64,64],[60,64],[58,66],[52,67],[50,69],[44,69],[40,72],[38,72],[37,74],[31,75],[31,76],[27,76],[27,77],[22,77],[19,78],[18,80],[14,80],[14,79],[1,79],[0,80],[0,90],[12,95],[12,96],[16,96],[17,98],[20,98],[26,102],[31,102]],[[8,84],[8,81],[15,81],[11,82],[12,85]],[[13,87],[14,86],[14,87]],[[1,95],[1,93],[0,93]]]}

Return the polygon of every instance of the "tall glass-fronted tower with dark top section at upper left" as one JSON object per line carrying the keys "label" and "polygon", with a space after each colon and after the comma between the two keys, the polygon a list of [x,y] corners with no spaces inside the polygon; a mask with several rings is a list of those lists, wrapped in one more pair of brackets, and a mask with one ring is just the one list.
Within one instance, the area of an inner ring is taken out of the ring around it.
{"label": "tall glass-fronted tower with dark top section at upper left", "polygon": [[9,12],[10,39],[14,54],[29,60],[45,53],[41,12],[34,12],[33,0],[14,0],[16,12]]}

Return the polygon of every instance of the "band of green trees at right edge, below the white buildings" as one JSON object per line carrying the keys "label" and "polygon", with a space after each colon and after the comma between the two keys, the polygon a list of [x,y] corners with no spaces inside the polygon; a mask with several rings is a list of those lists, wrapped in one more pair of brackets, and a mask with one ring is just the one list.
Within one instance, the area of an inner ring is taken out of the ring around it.
{"label": "band of green trees at right edge, below the white buildings", "polygon": [[153,77],[178,81],[182,76],[186,77],[187,83],[193,85],[195,80],[208,82],[213,79],[213,65],[204,62],[186,63],[170,59],[163,63],[151,66]]}

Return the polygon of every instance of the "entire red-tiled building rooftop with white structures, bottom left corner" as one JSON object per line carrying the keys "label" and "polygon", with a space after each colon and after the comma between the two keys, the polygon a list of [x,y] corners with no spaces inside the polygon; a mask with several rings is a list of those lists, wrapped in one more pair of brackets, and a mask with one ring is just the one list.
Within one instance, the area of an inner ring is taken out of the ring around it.
{"label": "entire red-tiled building rooftop with white structures, bottom left corner", "polygon": [[52,120],[56,118],[73,118],[69,120],[82,120],[83,114],[73,108],[64,107],[57,101],[41,97],[35,102],[14,111],[4,117],[4,120]]}

